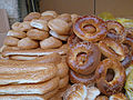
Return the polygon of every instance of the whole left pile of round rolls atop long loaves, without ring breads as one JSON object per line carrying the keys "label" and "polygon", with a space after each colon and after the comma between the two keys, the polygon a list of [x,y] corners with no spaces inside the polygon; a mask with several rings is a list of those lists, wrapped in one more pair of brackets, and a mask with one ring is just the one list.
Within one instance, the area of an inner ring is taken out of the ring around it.
{"label": "whole left pile of round rolls atop long loaves, without ring breads", "polygon": [[69,84],[66,40],[76,14],[31,12],[16,22],[1,48],[0,99],[61,99]]}

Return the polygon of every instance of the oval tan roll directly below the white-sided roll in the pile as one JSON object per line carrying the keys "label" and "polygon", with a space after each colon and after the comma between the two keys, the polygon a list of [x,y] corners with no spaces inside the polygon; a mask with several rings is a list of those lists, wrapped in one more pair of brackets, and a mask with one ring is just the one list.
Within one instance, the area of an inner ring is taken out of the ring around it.
{"label": "oval tan roll directly below the white-sided roll in the pile", "polygon": [[31,29],[27,32],[27,36],[30,39],[33,39],[33,40],[43,40],[43,39],[49,37],[49,33],[47,31],[41,31],[41,30],[38,30],[38,29]]}

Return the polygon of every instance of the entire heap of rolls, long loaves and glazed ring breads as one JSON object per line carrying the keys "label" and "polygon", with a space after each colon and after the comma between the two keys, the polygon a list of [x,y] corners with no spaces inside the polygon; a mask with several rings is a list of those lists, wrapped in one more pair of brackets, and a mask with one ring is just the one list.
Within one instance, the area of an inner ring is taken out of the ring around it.
{"label": "entire heap of rolls, long loaves and glazed ring breads", "polygon": [[133,28],[55,11],[11,28],[0,49],[1,100],[132,100]]}

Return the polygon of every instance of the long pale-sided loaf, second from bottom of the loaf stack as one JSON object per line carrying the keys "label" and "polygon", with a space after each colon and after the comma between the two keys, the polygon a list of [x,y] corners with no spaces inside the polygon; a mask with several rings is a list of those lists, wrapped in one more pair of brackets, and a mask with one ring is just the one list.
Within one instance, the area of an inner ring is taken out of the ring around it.
{"label": "long pale-sided loaf, second from bottom of the loaf stack", "polygon": [[59,86],[59,78],[37,84],[10,84],[0,87],[0,94],[44,94]]}

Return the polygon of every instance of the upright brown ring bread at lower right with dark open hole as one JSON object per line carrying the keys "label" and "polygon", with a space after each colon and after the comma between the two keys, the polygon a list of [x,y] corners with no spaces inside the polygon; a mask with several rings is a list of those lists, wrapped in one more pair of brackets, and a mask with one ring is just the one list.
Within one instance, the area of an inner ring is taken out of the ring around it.
{"label": "upright brown ring bread at lower right with dark open hole", "polygon": [[[106,81],[108,69],[112,69],[115,73],[113,80]],[[122,64],[114,58],[103,60],[96,69],[96,86],[100,91],[106,96],[111,96],[122,91],[125,82],[125,70]]]}

